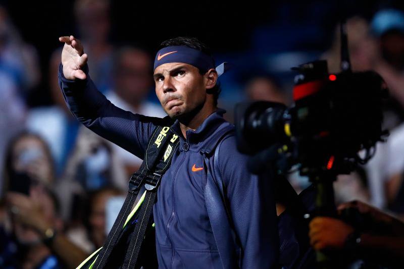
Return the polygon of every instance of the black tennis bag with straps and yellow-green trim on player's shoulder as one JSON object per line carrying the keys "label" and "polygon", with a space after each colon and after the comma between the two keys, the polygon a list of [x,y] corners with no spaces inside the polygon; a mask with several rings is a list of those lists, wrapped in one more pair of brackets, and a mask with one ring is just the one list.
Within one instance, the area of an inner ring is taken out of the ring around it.
{"label": "black tennis bag with straps and yellow-green trim on player's shoulder", "polygon": [[[155,128],[145,150],[143,163],[129,180],[128,195],[104,246],[77,268],[158,267],[153,205],[160,180],[170,167],[178,144],[178,135],[170,127]],[[145,238],[150,240],[143,240]]]}

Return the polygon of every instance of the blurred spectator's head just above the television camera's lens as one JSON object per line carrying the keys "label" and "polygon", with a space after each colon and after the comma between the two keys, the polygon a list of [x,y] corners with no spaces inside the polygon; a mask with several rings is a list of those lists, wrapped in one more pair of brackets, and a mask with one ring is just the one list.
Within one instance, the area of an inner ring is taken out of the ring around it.
{"label": "blurred spectator's head just above the television camera's lens", "polygon": [[267,78],[251,80],[246,87],[246,93],[251,100],[287,103],[285,95],[280,92],[278,86]]}

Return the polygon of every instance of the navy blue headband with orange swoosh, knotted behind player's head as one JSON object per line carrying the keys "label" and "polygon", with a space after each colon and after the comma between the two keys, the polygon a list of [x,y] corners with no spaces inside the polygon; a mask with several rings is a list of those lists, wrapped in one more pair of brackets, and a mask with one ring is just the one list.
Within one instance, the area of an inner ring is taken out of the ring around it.
{"label": "navy blue headband with orange swoosh, knotted behind player's head", "polygon": [[228,69],[227,63],[222,63],[216,67],[215,60],[211,56],[188,46],[169,46],[160,49],[156,54],[154,70],[156,70],[158,66],[167,63],[189,64],[203,72],[207,72],[209,69],[214,68],[219,76]]}

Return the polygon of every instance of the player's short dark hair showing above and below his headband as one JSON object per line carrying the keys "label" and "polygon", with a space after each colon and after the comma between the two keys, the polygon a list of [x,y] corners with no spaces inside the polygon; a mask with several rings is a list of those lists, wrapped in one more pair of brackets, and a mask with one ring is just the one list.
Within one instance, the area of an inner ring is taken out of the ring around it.
{"label": "player's short dark hair showing above and below his headband", "polygon": [[[203,43],[199,39],[197,39],[196,37],[182,37],[182,36],[174,37],[174,38],[168,39],[166,41],[163,41],[160,44],[159,49],[162,49],[163,47],[169,47],[169,46],[187,46],[190,48],[200,50],[212,57],[210,48],[205,43]],[[205,70],[199,69],[199,74],[201,74],[201,75],[205,75],[206,72],[207,71],[205,71]],[[218,105],[219,93],[221,91],[222,91],[222,89],[220,88],[219,82],[216,82],[216,85],[212,89],[209,89],[207,91],[209,94],[213,94],[215,106]]]}

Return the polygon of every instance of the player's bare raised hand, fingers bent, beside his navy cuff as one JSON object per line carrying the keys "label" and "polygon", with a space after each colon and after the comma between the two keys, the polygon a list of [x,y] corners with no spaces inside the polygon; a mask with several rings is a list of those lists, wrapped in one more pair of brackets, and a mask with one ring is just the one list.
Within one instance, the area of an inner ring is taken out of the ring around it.
{"label": "player's bare raised hand, fingers bent, beside his navy cuff", "polygon": [[87,63],[88,56],[84,53],[83,45],[74,36],[61,36],[59,41],[65,45],[62,50],[63,75],[70,80],[86,79],[82,68]]}

